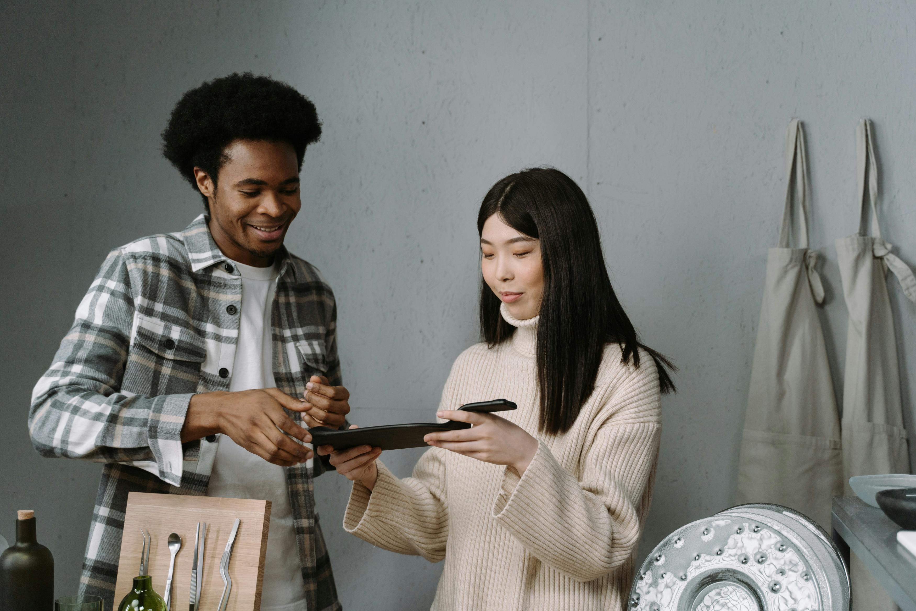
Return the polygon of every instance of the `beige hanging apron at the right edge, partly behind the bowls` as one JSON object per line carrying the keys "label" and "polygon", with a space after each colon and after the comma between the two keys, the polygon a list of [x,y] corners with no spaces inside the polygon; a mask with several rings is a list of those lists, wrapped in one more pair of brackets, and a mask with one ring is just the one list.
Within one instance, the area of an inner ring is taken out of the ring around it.
{"label": "beige hanging apron at the right edge, partly behind the bowls", "polygon": [[[853,475],[910,473],[897,340],[885,279],[888,268],[900,279],[907,297],[916,301],[916,278],[906,264],[890,254],[890,245],[881,239],[878,163],[871,122],[867,119],[856,127],[856,166],[859,233],[836,240],[837,263],[849,310],[843,382],[843,471],[847,495],[853,494],[849,487]],[[874,236],[866,233],[866,196],[871,201]],[[851,561],[853,608],[896,609],[855,554]]]}

